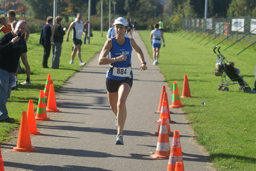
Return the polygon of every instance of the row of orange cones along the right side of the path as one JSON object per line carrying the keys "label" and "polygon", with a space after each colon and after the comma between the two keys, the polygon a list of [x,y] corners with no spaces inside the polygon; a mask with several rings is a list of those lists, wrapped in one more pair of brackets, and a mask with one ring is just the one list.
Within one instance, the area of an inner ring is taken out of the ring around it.
{"label": "row of orange cones along the right side of the path", "polygon": [[[184,84],[182,89],[181,97],[192,97],[190,95],[190,89],[188,85],[187,75],[184,76]],[[180,145],[179,131],[172,132],[170,130],[170,123],[175,123],[171,120],[170,108],[181,108],[180,95],[178,91],[177,82],[174,82],[173,93],[172,93],[172,104],[168,105],[168,98],[166,93],[165,85],[162,87],[158,110],[154,113],[160,113],[158,122],[158,131],[154,135],[158,135],[158,143],[156,146],[156,153],[150,155],[153,159],[169,159],[167,171],[184,171],[182,150]],[[169,135],[173,135],[172,145],[170,146]]]}

